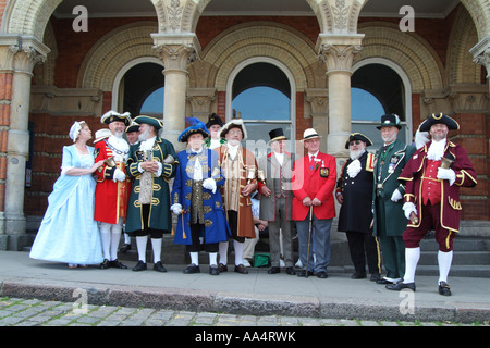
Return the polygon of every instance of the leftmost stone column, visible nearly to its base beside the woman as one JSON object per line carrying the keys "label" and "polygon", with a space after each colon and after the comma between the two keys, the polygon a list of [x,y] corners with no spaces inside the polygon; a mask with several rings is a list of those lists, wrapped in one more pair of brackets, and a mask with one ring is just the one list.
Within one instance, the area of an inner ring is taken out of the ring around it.
{"label": "leftmost stone column, visible nearly to its base beside the woman", "polygon": [[[12,99],[7,146],[7,177],[4,197],[4,233],[10,236],[25,233],[24,187],[25,163],[29,149],[28,120],[30,79],[36,64],[45,61],[49,49],[33,37],[2,37],[11,41]],[[17,249],[9,240],[9,249]]]}

